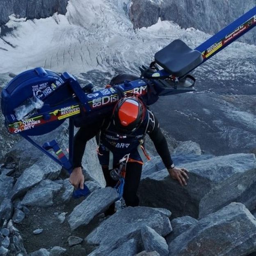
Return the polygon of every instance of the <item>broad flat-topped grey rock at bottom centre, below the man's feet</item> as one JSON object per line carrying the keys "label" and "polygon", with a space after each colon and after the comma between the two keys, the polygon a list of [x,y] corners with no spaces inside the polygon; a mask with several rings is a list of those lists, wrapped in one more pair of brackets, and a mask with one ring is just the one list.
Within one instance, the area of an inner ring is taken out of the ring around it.
{"label": "broad flat-topped grey rock at bottom centre, below the man's feet", "polygon": [[140,230],[149,226],[157,233],[165,236],[171,232],[169,216],[161,210],[149,207],[127,207],[119,210],[92,231],[85,240],[99,247],[93,251],[91,256],[109,255],[114,249],[120,247],[124,242],[135,239],[142,245]]}

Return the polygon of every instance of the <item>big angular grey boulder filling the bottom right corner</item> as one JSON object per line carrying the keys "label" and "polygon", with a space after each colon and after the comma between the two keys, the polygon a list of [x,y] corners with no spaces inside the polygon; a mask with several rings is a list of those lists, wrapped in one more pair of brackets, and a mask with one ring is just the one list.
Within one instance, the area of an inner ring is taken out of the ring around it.
{"label": "big angular grey boulder filling the bottom right corner", "polygon": [[256,219],[242,203],[231,203],[175,238],[169,254],[248,255],[256,251],[255,239]]}

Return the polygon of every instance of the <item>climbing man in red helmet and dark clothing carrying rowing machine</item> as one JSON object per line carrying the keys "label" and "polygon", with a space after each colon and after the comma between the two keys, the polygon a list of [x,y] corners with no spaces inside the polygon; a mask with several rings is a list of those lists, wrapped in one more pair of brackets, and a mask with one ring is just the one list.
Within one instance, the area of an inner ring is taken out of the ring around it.
{"label": "climbing man in red helmet and dark clothing carrying rowing machine", "polygon": [[[137,189],[143,163],[149,159],[144,149],[144,138],[149,135],[156,151],[162,158],[171,178],[182,186],[187,185],[187,170],[177,168],[171,160],[167,141],[162,134],[158,120],[139,96],[121,98],[111,115],[94,124],[86,123],[78,130],[74,140],[73,171],[69,178],[77,189],[83,189],[82,156],[86,142],[96,136],[98,159],[102,166],[106,186],[114,187],[120,173],[124,177],[123,199],[126,206],[138,206]],[[114,214],[114,204],[105,215]]]}

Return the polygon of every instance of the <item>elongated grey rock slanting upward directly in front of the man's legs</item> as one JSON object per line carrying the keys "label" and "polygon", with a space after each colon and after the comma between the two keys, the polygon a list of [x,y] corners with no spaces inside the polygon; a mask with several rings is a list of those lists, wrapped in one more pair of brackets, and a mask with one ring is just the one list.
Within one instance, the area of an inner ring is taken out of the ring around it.
{"label": "elongated grey rock slanting upward directly in front of the man's legs", "polygon": [[69,215],[71,229],[74,230],[81,225],[87,225],[91,219],[97,214],[104,212],[118,197],[117,190],[112,187],[101,188],[92,192]]}

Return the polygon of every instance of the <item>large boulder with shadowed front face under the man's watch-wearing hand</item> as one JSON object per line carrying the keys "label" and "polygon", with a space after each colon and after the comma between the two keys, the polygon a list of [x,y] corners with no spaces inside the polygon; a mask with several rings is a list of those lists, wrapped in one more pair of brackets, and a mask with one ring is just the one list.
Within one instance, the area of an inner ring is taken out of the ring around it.
{"label": "large boulder with shadowed front face under the man's watch-wearing hand", "polygon": [[171,210],[174,217],[190,215],[201,218],[232,201],[256,206],[256,159],[254,154],[225,155],[180,165],[189,172],[182,187],[157,165],[142,174],[139,198],[142,206]]}

